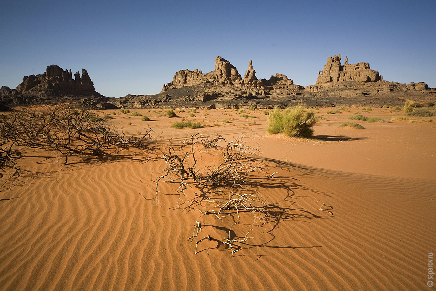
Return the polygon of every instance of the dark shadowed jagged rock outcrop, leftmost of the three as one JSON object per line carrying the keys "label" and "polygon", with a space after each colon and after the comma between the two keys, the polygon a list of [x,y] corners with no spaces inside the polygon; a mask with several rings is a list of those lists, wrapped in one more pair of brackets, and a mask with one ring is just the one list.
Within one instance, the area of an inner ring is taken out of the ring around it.
{"label": "dark shadowed jagged rock outcrop, leftmost of the three", "polygon": [[71,69],[63,70],[57,65],[47,66],[42,75],[24,76],[23,82],[16,89],[21,92],[41,92],[41,91],[58,91],[64,92],[82,92],[95,91],[93,81],[85,69],[82,69],[82,77],[79,72],[73,75]]}

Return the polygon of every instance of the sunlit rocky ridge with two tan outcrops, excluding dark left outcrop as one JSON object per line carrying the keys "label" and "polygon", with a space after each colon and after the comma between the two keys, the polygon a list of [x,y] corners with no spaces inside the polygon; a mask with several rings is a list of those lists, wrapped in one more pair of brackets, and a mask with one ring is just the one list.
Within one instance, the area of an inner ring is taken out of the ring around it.
{"label": "sunlit rocky ridge with two tan outcrops, excluding dark left outcrop", "polygon": [[203,74],[195,69],[175,73],[172,82],[156,95],[127,95],[111,99],[118,107],[180,107],[205,108],[270,108],[286,107],[303,101],[309,106],[358,105],[399,106],[405,99],[436,100],[435,89],[425,83],[400,84],[383,81],[379,72],[368,63],[341,65],[341,55],[328,57],[323,71],[319,71],[315,85],[300,86],[286,75],[275,74],[269,80],[258,79],[249,61],[244,78],[229,61],[217,56],[215,70]]}

